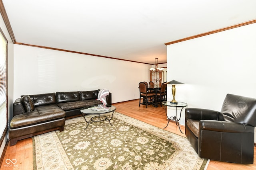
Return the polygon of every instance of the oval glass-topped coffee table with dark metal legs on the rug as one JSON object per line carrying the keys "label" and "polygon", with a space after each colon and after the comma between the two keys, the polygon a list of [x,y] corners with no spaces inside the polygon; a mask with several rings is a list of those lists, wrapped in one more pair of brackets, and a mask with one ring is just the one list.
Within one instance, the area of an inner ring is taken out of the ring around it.
{"label": "oval glass-topped coffee table with dark metal legs on the rug", "polygon": [[[116,110],[115,106],[112,106],[112,105],[104,106],[103,104],[98,104],[98,105],[94,105],[94,106],[84,107],[80,110],[80,112],[84,116],[84,120],[87,123],[87,126],[86,126],[86,128],[87,128],[90,123],[99,122],[99,121],[108,121],[110,123],[110,125],[112,125],[110,121],[114,115],[115,110]],[[111,112],[112,112],[112,115],[111,115]],[[110,115],[106,116],[105,115],[106,113],[110,113]],[[90,119],[86,120],[86,115],[96,115],[96,116],[93,116]]]}

